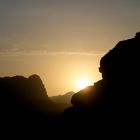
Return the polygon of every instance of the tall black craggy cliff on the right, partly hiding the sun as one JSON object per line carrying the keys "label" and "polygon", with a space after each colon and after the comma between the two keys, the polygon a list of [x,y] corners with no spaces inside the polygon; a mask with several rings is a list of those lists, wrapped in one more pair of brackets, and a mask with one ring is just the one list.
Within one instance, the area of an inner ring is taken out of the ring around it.
{"label": "tall black craggy cliff on the right, partly hiding the sun", "polygon": [[139,49],[140,32],[132,39],[120,41],[104,55],[99,67],[102,79],[72,96],[73,107],[65,110],[65,118],[73,118],[75,124],[92,122],[94,125],[137,120],[140,107]]}

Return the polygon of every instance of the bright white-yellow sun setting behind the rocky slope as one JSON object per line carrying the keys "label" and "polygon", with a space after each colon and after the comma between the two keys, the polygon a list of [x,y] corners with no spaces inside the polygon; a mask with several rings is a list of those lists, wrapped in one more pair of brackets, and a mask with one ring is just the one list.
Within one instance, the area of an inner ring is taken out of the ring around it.
{"label": "bright white-yellow sun setting behind the rocky slope", "polygon": [[93,84],[93,80],[89,78],[80,78],[77,80],[77,87],[79,90],[84,89],[87,86],[90,86]]}

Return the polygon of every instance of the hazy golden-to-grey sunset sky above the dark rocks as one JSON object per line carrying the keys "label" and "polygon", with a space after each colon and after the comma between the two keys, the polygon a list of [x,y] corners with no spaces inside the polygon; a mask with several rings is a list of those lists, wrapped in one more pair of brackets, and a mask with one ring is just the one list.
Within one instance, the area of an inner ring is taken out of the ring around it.
{"label": "hazy golden-to-grey sunset sky above the dark rocks", "polygon": [[38,74],[48,95],[101,79],[100,58],[140,31],[140,0],[0,0],[0,76]]}

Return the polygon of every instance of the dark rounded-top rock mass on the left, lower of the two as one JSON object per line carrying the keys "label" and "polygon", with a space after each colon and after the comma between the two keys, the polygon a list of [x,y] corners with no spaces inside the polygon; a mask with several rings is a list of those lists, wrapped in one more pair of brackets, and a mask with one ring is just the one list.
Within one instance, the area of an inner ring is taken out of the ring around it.
{"label": "dark rounded-top rock mass on the left, lower of the two", "polygon": [[28,78],[23,76],[0,78],[1,127],[25,126],[26,129],[45,127],[55,123],[56,116],[62,111],[62,107],[48,97],[38,75],[34,74]]}

